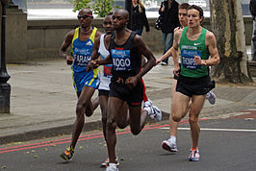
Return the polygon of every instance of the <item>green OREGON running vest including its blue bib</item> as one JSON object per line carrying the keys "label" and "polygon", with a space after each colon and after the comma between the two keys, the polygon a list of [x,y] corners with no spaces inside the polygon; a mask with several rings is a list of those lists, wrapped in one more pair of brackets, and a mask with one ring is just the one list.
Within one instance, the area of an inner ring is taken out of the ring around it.
{"label": "green OREGON running vest including its blue bib", "polygon": [[200,78],[207,76],[208,66],[197,65],[193,56],[199,56],[202,60],[209,59],[209,51],[205,45],[207,30],[202,27],[201,35],[196,40],[187,37],[188,27],[185,27],[180,38],[179,48],[181,53],[181,72],[184,77]]}

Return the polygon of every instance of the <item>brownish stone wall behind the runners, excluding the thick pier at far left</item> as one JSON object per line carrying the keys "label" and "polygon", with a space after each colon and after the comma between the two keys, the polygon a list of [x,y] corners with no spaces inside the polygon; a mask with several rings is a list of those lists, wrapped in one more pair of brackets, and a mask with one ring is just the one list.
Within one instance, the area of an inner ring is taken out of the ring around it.
{"label": "brownish stone wall behind the runners, excluding the thick pier at far left", "polygon": [[[246,44],[250,44],[252,21],[244,17]],[[155,53],[162,53],[162,32],[154,29],[155,18],[149,19],[150,33],[145,31],[142,38],[147,46]],[[29,20],[28,21],[28,59],[60,58],[59,48],[68,31],[78,25],[77,20]],[[92,25],[102,31],[102,19],[95,18]],[[203,26],[210,28],[210,19],[206,18]]]}

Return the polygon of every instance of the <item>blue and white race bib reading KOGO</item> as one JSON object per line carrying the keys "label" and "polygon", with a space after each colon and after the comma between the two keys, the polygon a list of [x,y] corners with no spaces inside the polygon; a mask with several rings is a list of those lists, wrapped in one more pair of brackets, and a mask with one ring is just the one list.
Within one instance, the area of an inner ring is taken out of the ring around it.
{"label": "blue and white race bib reading KOGO", "polygon": [[113,67],[116,71],[131,70],[130,50],[112,49]]}

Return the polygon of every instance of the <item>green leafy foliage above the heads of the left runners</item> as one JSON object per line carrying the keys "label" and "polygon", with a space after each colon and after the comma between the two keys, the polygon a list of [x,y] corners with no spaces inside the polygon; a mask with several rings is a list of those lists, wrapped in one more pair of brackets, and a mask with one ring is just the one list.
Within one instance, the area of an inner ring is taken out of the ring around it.
{"label": "green leafy foliage above the heads of the left runners", "polygon": [[114,6],[114,0],[70,0],[70,3],[74,6],[73,12],[89,8],[93,13],[101,17],[112,12],[113,8],[117,8],[117,6]]}

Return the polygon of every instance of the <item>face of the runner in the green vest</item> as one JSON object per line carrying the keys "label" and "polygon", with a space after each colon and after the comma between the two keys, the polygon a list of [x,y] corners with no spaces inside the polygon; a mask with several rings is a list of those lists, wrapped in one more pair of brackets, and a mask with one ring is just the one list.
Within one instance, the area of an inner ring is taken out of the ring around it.
{"label": "face of the runner in the green vest", "polygon": [[188,24],[189,24],[189,27],[198,27],[200,26],[201,24],[201,21],[202,21],[202,17],[200,17],[199,15],[199,12],[195,9],[191,9],[188,11]]}

